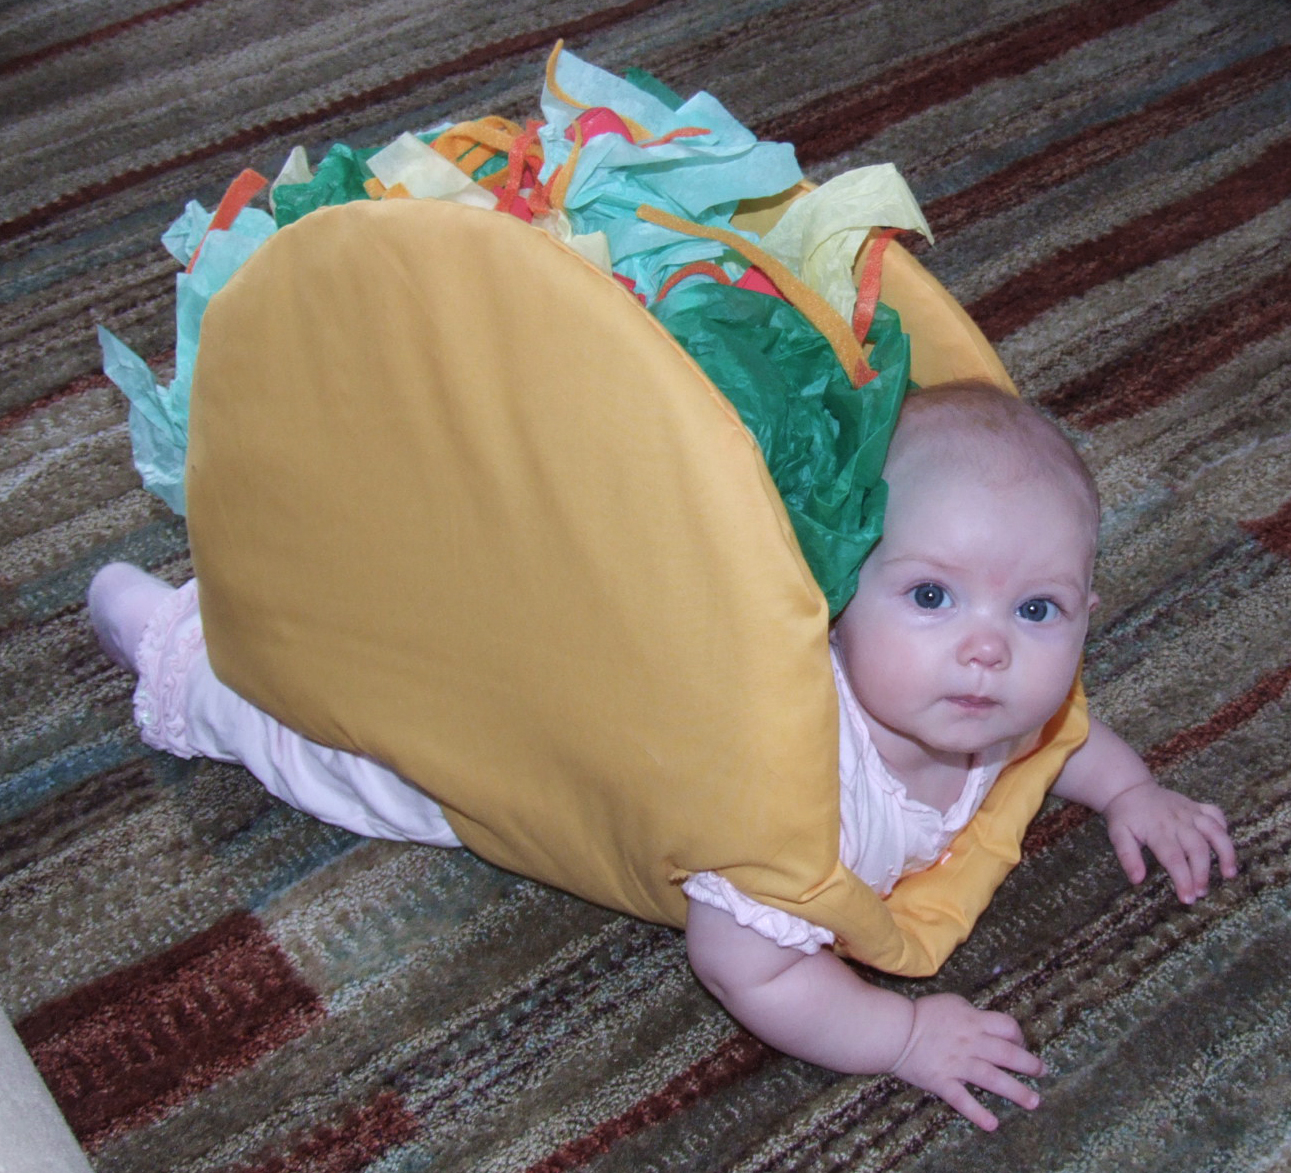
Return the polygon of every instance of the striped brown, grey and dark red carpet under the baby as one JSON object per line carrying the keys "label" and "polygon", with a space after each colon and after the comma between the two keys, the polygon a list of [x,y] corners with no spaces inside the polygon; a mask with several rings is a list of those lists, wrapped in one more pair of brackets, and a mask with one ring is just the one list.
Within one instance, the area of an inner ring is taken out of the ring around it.
{"label": "striped brown, grey and dark red carpet under the baby", "polygon": [[[942,974],[891,982],[1025,1023],[1046,1103],[995,1136],[768,1052],[669,930],[146,752],[94,648],[97,565],[190,569],[94,342],[169,377],[164,227],[296,143],[532,115],[558,36],[816,179],[895,161],[1097,474],[1092,703],[1242,872],[1184,908],[1046,808]],[[1291,1168],[1286,0],[9,0],[0,108],[0,1005],[98,1170]]]}

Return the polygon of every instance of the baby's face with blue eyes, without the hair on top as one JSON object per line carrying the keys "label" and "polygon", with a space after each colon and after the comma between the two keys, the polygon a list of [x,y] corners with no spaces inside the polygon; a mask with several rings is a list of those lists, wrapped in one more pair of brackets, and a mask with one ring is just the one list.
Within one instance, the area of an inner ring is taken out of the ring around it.
{"label": "baby's face with blue eyes, without the hair on top", "polygon": [[1090,523],[1042,480],[897,470],[889,489],[835,631],[875,745],[893,767],[1007,751],[1075,676],[1096,601]]}

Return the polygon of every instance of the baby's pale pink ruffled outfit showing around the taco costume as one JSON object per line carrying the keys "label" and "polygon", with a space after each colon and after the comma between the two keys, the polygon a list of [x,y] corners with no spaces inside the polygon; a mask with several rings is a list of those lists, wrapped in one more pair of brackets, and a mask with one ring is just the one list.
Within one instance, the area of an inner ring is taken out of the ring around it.
{"label": "baby's pale pink ruffled outfit showing around the taco costume", "polygon": [[[839,702],[839,859],[887,896],[901,876],[941,859],[1007,759],[973,767],[945,814],[915,801],[874,748],[833,647],[830,658]],[[134,719],[154,748],[238,761],[284,803],[359,835],[461,847],[439,804],[422,790],[369,757],[301,737],[221,684],[207,658],[196,582],[158,608],[145,628],[138,663]],[[759,905],[717,872],[696,872],[682,890],[806,954],[834,941],[828,929]]]}

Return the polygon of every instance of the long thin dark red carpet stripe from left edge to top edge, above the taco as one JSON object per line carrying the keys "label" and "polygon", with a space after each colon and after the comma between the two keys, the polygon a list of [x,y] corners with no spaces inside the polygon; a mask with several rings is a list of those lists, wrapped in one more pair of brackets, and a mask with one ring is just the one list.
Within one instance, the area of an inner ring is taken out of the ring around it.
{"label": "long thin dark red carpet stripe from left edge to top edge, above the taco", "polygon": [[67,212],[83,208],[86,204],[106,199],[107,196],[116,195],[121,191],[127,191],[130,187],[137,187],[141,183],[146,183],[150,179],[155,179],[169,172],[178,170],[182,166],[203,163],[229,151],[245,154],[267,138],[281,134],[296,134],[323,123],[327,119],[349,114],[355,110],[364,110],[365,107],[373,106],[378,102],[389,102],[394,98],[404,97],[405,94],[413,93],[422,86],[431,85],[457,74],[466,74],[471,70],[482,68],[483,66],[492,65],[506,57],[518,57],[523,53],[532,53],[536,49],[550,48],[562,37],[571,40],[576,36],[600,31],[602,28],[616,25],[620,21],[626,21],[630,17],[639,15],[643,12],[649,12],[652,8],[658,8],[660,5],[669,3],[671,3],[671,0],[629,0],[626,4],[589,13],[576,21],[551,25],[546,28],[537,28],[533,32],[524,32],[516,36],[506,37],[501,41],[494,41],[492,45],[471,49],[469,53],[463,53],[461,57],[454,57],[452,61],[427,66],[426,68],[416,70],[412,74],[405,74],[402,77],[392,77],[390,81],[383,81],[381,85],[374,85],[361,93],[347,94],[346,97],[337,98],[332,102],[324,102],[314,110],[306,110],[300,114],[288,115],[287,117],[272,119],[267,123],[258,123],[254,126],[245,126],[241,130],[236,130],[232,134],[226,135],[218,142],[208,143],[204,147],[185,151],[179,155],[172,155],[169,159],[161,159],[156,163],[148,164],[147,166],[121,172],[111,179],[105,179],[99,183],[89,183],[76,191],[70,191],[48,204],[32,208],[22,216],[17,216],[10,221],[0,223],[0,240],[12,240],[15,236],[21,236],[23,232],[30,232],[32,228],[39,228],[43,225],[49,223],[52,219],[56,219]]}

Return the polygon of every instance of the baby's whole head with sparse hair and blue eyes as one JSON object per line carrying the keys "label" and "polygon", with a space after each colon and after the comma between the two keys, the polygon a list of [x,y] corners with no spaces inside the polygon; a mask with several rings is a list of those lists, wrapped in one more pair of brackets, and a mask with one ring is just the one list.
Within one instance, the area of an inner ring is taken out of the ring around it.
{"label": "baby's whole head with sparse hair and blue eyes", "polygon": [[1079,666],[1093,480],[1052,423],[986,383],[913,394],[883,476],[883,537],[835,627],[856,698],[889,750],[1007,750]]}

